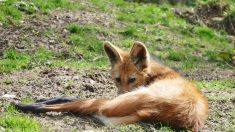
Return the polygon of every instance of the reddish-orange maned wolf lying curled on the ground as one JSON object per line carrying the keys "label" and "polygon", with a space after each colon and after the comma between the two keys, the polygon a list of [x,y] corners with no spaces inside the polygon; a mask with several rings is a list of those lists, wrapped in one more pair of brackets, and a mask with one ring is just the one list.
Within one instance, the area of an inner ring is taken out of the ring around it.
{"label": "reddish-orange maned wolf lying curled on the ground", "polygon": [[110,42],[104,50],[111,76],[123,93],[114,99],[54,98],[32,105],[14,104],[23,111],[70,111],[94,114],[109,125],[155,121],[174,128],[199,131],[208,116],[208,102],[197,87],[176,71],[150,59],[141,42],[125,52]]}

